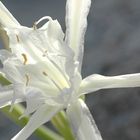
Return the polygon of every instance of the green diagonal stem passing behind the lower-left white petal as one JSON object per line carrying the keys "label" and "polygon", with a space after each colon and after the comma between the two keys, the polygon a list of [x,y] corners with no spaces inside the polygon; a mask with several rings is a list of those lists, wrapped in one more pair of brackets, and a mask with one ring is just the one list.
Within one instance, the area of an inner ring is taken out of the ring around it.
{"label": "green diagonal stem passing behind the lower-left white petal", "polygon": [[[24,117],[21,120],[18,118],[22,115],[24,111],[24,107],[22,105],[16,105],[12,112],[9,112],[10,107],[4,107],[2,108],[2,112],[9,117],[12,121],[14,121],[16,124],[19,124],[21,126],[26,125],[28,122],[28,118]],[[64,140],[60,135],[56,134],[55,132],[51,131],[45,126],[41,126],[35,131],[35,134],[41,139],[41,140]]]}

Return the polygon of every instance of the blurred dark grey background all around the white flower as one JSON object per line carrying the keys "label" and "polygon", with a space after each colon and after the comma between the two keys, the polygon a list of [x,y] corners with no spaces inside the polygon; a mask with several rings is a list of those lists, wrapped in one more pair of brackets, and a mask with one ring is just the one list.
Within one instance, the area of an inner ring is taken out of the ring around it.
{"label": "blurred dark grey background all around the white flower", "polygon": [[[3,0],[26,26],[42,16],[57,18],[65,30],[65,0]],[[140,0],[94,0],[85,38],[83,77],[93,73],[140,72]],[[2,47],[2,44],[0,44]],[[101,90],[86,102],[104,140],[140,139],[140,88]],[[0,114],[0,140],[21,128]],[[35,136],[29,140],[39,140]]]}

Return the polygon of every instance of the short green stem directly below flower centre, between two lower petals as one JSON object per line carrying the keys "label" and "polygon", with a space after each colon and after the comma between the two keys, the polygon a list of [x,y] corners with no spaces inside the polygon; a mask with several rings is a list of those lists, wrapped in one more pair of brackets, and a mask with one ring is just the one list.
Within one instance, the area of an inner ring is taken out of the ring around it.
{"label": "short green stem directly below flower centre, between two lower petals", "polygon": [[64,111],[61,111],[56,116],[54,116],[51,122],[55,128],[57,128],[58,132],[65,138],[65,140],[75,140]]}

